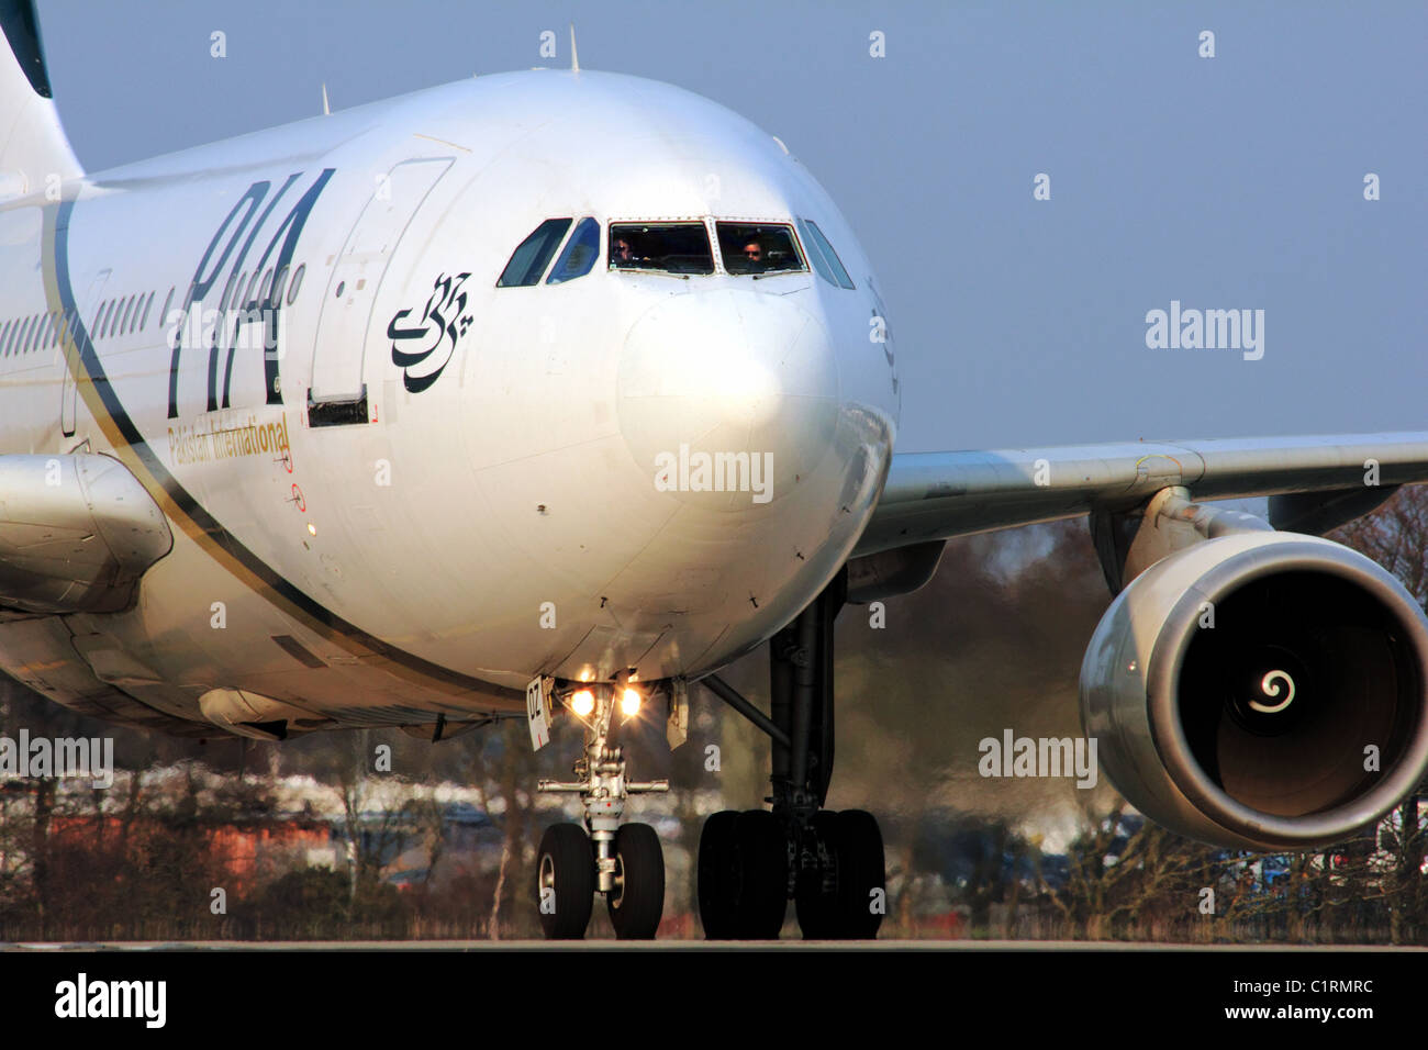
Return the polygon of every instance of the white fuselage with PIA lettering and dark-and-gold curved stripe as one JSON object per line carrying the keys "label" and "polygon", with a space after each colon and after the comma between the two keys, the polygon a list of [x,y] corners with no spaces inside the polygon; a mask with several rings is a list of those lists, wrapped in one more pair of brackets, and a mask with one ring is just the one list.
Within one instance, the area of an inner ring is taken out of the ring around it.
{"label": "white fuselage with PIA lettering and dark-and-gold curved stripe", "polygon": [[[587,216],[587,274],[497,287]],[[853,289],[607,267],[613,221],[798,219]],[[276,351],[216,313],[240,303]],[[481,77],[0,206],[0,326],[46,311],[81,329],[0,334],[0,454],[113,454],[164,510],[137,606],[66,630],[196,720],[216,689],[361,724],[511,709],[537,673],[697,677],[834,576],[897,426],[828,196],[728,110],[614,74]],[[701,490],[700,453],[767,464],[761,491]],[[10,670],[26,630],[0,623]]]}

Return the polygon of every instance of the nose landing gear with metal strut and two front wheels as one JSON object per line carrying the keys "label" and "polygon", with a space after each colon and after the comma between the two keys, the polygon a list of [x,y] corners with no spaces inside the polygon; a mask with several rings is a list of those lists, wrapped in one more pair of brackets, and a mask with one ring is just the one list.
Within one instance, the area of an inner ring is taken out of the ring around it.
{"label": "nose landing gear with metal strut and two front wheels", "polygon": [[[664,851],[648,824],[621,824],[625,799],[643,791],[668,791],[670,781],[625,779],[624,749],[610,746],[617,687],[584,686],[567,701],[585,726],[585,747],[573,781],[541,780],[538,791],[571,791],[585,804],[584,827],[553,824],[540,843],[537,903],[540,923],[551,940],[585,936],[594,894],[610,909],[621,940],[654,937],[664,913]],[[588,834],[587,834],[588,829]]]}

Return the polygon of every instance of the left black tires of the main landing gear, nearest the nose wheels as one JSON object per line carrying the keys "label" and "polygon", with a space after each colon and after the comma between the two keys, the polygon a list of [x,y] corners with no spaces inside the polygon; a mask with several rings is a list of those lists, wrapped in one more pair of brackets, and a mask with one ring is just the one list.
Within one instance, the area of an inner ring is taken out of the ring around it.
{"label": "left black tires of the main landing gear, nearest the nose wheels", "polygon": [[775,940],[788,909],[788,846],[768,810],[724,810],[700,836],[700,921],[710,940]]}

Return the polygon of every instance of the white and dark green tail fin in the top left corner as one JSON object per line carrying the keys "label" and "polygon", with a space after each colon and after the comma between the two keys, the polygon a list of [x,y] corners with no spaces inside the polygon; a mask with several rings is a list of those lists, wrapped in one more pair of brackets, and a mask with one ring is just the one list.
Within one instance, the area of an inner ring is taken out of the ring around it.
{"label": "white and dark green tail fin in the top left corner", "polygon": [[60,114],[40,46],[34,0],[0,0],[0,199],[44,190],[83,174]]}

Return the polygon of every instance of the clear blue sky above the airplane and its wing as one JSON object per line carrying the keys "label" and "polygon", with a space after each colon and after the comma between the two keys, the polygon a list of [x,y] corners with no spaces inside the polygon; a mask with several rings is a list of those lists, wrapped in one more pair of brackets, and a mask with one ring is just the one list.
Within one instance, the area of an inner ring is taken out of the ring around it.
{"label": "clear blue sky above the airplane and its wing", "polygon": [[[840,203],[904,451],[1428,429],[1428,4],[39,6],[93,170],[311,116],[323,81],[340,109],[564,64],[573,20],[583,67],[737,110]],[[1264,310],[1264,357],[1148,349],[1171,300]]]}

